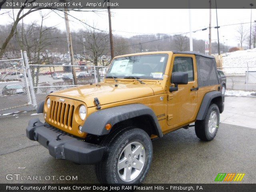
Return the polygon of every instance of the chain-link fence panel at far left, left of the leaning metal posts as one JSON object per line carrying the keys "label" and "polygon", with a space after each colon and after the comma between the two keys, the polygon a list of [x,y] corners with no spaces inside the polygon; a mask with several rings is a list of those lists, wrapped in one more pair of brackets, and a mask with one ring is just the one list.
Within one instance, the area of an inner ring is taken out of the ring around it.
{"label": "chain-link fence panel at far left, left of the leaning metal posts", "polygon": [[31,104],[22,52],[0,60],[0,112]]}

